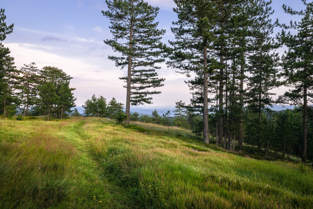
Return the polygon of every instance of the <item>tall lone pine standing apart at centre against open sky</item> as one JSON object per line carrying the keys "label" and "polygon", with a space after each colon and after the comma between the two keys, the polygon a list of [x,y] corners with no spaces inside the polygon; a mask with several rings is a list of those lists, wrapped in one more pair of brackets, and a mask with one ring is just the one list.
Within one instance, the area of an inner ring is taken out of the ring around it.
{"label": "tall lone pine standing apart at centre against open sky", "polygon": [[143,103],[151,103],[149,95],[160,94],[160,91],[152,91],[163,86],[165,79],[158,78],[155,66],[164,59],[162,55],[161,38],[165,30],[159,30],[158,22],[154,22],[159,8],[152,7],[143,0],[113,0],[105,1],[107,11],[103,15],[110,19],[110,29],[113,39],[105,40],[104,43],[111,46],[114,51],[120,52],[121,57],[109,56],[116,62],[117,67],[122,69],[127,66],[125,80],[127,88],[126,114],[129,124],[130,103],[134,106]]}

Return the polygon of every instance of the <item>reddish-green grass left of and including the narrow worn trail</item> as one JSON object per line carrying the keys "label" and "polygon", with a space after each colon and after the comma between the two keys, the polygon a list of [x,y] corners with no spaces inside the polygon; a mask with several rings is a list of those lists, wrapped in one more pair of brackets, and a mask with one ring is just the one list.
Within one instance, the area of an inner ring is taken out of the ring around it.
{"label": "reddish-green grass left of and including the narrow worn trail", "polygon": [[123,208],[123,191],[93,159],[84,123],[5,121],[0,208]]}

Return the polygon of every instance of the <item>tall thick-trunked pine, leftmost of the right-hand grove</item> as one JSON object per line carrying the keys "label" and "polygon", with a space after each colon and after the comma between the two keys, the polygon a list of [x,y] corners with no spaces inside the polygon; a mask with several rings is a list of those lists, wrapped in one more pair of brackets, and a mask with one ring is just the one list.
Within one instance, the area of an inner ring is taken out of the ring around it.
{"label": "tall thick-trunked pine, leftmost of the right-hand grove", "polygon": [[202,108],[204,117],[203,140],[209,143],[208,125],[208,77],[212,73],[210,49],[212,48],[213,29],[216,19],[214,1],[175,0],[178,20],[173,25],[172,32],[175,41],[169,41],[173,47],[169,50],[169,66],[179,69],[180,73],[188,77],[195,73],[200,86],[200,98],[203,96]]}

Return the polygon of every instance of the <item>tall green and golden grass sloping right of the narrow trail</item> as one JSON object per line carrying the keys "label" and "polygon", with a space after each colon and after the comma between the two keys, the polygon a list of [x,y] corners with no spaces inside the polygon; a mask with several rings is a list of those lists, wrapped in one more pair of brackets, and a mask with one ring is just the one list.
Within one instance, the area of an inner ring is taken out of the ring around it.
{"label": "tall green and golden grass sloping right of the narrow trail", "polygon": [[127,190],[133,207],[313,207],[312,172],[216,151],[166,132],[160,136],[159,126],[153,134],[153,125],[137,125],[148,131],[94,124],[103,138],[93,141],[107,176]]}

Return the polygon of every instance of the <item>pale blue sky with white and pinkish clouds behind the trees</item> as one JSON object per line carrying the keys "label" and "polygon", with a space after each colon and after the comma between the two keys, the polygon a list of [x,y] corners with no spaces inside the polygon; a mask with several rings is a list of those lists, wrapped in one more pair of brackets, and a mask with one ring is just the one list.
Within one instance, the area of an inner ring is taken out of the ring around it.
{"label": "pale blue sky with white and pinkish clouds behind the trees", "polygon": [[[177,19],[171,0],[147,0],[160,8],[157,21],[159,29],[166,29],[162,41],[168,44],[174,36],[170,31],[172,22]],[[298,17],[284,13],[282,5],[294,9],[303,9],[301,0],[273,0],[275,13],[272,19],[279,18],[281,23],[289,23]],[[113,50],[103,43],[112,36],[109,20],[103,16],[106,10],[104,0],[1,0],[0,8],[5,9],[6,23],[14,23],[13,33],[7,36],[3,44],[11,51],[15,66],[35,62],[38,69],[53,66],[62,69],[73,77],[71,87],[76,88],[76,105],[96,96],[107,100],[115,97],[125,103],[126,89],[119,79],[126,74],[109,60]],[[277,29],[276,31],[279,31]],[[159,77],[166,78],[164,87],[158,89],[162,94],[153,96],[152,105],[144,108],[172,108],[176,101],[189,103],[191,94],[184,82],[184,75],[160,64]],[[276,89],[282,94],[286,89]]]}

